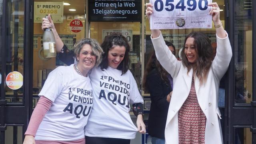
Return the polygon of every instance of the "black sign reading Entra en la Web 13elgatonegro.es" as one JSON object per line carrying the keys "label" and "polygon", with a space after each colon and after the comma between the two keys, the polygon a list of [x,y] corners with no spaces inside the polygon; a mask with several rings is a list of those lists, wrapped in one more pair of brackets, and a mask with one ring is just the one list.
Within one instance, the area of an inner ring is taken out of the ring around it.
{"label": "black sign reading Entra en la Web 13elgatonegro.es", "polygon": [[89,0],[89,22],[141,22],[141,0]]}

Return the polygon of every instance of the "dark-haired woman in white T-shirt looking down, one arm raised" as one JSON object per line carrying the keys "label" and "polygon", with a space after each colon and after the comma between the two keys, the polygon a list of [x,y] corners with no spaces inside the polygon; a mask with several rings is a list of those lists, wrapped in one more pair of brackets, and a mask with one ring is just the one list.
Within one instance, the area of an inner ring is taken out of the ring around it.
{"label": "dark-haired woman in white T-shirt looking down, one arm raised", "polygon": [[[42,29],[51,27],[56,39],[58,58],[66,63],[74,63],[74,52],[60,40],[50,14],[43,18]],[[136,81],[129,70],[130,46],[121,34],[104,38],[102,62],[92,69],[91,78],[94,106],[85,127],[86,144],[130,144],[137,132],[145,133],[143,122],[144,100],[138,91]],[[137,116],[137,128],[129,111],[130,104]]]}

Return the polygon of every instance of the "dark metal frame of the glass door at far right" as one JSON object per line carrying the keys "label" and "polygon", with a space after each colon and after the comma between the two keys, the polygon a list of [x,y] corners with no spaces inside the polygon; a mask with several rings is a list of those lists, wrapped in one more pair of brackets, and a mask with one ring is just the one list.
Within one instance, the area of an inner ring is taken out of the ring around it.
{"label": "dark metal frame of the glass door at far right", "polygon": [[[234,56],[234,1],[225,0],[225,29],[229,34]],[[252,0],[252,102],[248,105],[234,105],[235,71],[232,57],[226,77],[224,143],[234,144],[234,128],[250,128],[252,143],[256,144],[256,2]],[[227,84],[228,83],[228,84]]]}

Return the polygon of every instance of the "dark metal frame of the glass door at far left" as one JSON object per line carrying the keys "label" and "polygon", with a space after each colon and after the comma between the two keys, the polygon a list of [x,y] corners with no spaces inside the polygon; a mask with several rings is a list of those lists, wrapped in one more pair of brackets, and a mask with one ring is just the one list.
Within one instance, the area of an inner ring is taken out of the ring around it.
{"label": "dark metal frame of the glass door at far left", "polygon": [[14,127],[13,142],[17,144],[17,126],[23,126],[22,140],[24,132],[28,126],[29,118],[32,113],[32,76],[33,76],[33,11],[34,2],[24,0],[24,77],[23,77],[23,102],[7,103],[5,100],[5,77],[6,77],[6,48],[8,47],[8,0],[3,0],[2,15],[2,47],[1,50],[1,68],[2,84],[0,85],[0,144],[5,143],[5,130],[7,126]]}

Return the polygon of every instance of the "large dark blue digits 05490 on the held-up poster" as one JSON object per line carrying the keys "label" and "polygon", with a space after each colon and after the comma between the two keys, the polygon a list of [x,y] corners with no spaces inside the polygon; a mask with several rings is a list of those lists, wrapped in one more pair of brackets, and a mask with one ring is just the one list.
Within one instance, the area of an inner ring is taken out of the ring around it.
{"label": "large dark blue digits 05490 on the held-up poster", "polygon": [[[181,9],[182,11],[184,11],[186,9],[186,6],[184,5],[184,1],[185,0],[180,0],[175,8],[176,9]],[[174,4],[172,4],[172,2],[174,2],[174,0],[166,0],[165,2],[165,10],[166,11],[173,11],[174,10]],[[204,6],[202,6],[202,3],[204,2]],[[159,3],[159,6],[158,6]],[[188,6],[188,10],[192,11],[196,9],[197,3],[196,0],[188,0],[187,1],[187,6]],[[156,0],[154,3],[154,8],[156,11],[161,12],[164,9],[164,2],[162,0]],[[199,0],[198,1],[198,8],[199,10],[206,10],[208,8],[208,1],[207,0]]]}

